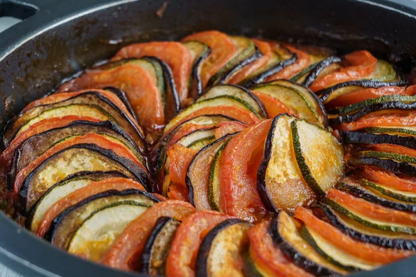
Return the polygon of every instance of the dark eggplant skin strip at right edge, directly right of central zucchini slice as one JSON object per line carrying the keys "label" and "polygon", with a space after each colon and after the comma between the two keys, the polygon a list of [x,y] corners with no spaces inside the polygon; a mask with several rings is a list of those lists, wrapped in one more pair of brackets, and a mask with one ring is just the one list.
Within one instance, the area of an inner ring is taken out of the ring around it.
{"label": "dark eggplant skin strip at right edge, directly right of central zucchini slice", "polygon": [[349,165],[367,165],[367,166],[376,166],[378,168],[383,168],[385,170],[394,172],[395,174],[404,174],[409,176],[416,175],[416,166],[412,166],[410,163],[394,161],[390,159],[377,159],[377,158],[359,158],[359,159],[349,159],[347,161]]}

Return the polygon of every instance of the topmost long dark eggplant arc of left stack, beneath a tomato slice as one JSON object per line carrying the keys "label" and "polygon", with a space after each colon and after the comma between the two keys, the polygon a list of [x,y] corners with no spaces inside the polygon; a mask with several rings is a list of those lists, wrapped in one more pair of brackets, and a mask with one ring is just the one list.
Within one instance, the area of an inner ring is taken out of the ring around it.
{"label": "topmost long dark eggplant arc of left stack, beneath a tomato slice", "polygon": [[[115,105],[111,100],[103,96],[103,94],[93,90],[85,91],[84,93],[78,94],[77,96],[73,96],[61,102],[55,102],[49,105],[40,105],[37,107],[33,107],[32,109],[29,109],[28,111],[25,111],[24,113],[17,115],[6,125],[3,133],[3,143],[6,147],[10,145],[10,142],[19,131],[21,125],[17,125],[16,123],[18,118],[26,116],[28,117],[28,120],[30,120],[31,117],[28,116],[28,114],[33,113],[34,111],[35,114],[40,114],[42,111],[46,111],[51,108],[63,107],[65,105],[70,105],[73,103],[92,105],[91,103],[94,103],[94,101],[100,102],[103,106],[99,107],[105,109],[105,111],[107,111],[108,113],[110,113],[110,110],[112,110],[112,116],[114,116],[114,114],[117,114],[120,118],[122,118],[122,120],[125,121],[125,124],[119,124],[120,127],[125,129],[126,132],[128,132],[130,136],[132,136],[132,138],[135,139],[135,141],[140,142],[140,145],[146,145],[144,134],[142,134],[141,130],[137,128],[132,119],[127,114],[125,114],[125,112],[121,110],[119,106]],[[26,122],[27,120],[24,123]],[[130,132],[128,131],[128,129],[130,129]]]}

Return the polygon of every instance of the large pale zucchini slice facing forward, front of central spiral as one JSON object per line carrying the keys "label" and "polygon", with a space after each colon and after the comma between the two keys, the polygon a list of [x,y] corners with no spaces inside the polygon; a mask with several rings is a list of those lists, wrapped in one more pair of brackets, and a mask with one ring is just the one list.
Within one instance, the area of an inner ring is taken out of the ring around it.
{"label": "large pale zucchini slice facing forward, front of central spiral", "polygon": [[302,177],[317,195],[326,195],[343,175],[343,145],[326,129],[305,120],[293,120],[291,131]]}

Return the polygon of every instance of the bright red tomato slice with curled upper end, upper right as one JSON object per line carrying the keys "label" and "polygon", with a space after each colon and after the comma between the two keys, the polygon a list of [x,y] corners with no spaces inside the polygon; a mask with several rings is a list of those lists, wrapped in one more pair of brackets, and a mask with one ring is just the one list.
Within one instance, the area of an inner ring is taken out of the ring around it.
{"label": "bright red tomato slice with curled upper end, upper right", "polygon": [[377,59],[368,51],[355,51],[345,55],[345,66],[337,71],[316,79],[312,91],[320,91],[340,82],[358,80],[370,75],[376,69]]}

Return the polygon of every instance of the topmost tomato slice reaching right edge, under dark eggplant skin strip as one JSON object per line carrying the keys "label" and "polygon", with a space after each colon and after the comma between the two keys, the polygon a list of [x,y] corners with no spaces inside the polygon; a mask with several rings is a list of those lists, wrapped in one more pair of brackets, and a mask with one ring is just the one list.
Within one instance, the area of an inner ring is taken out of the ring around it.
{"label": "topmost tomato slice reaching right edge, under dark eggplant skin strip", "polygon": [[325,107],[345,107],[347,105],[356,104],[367,99],[379,98],[380,96],[413,96],[415,94],[416,89],[405,89],[404,87],[380,87],[378,89],[360,89],[358,91],[352,91],[350,93],[346,93],[341,96],[338,96],[337,98],[334,98],[333,100],[325,103]]}

